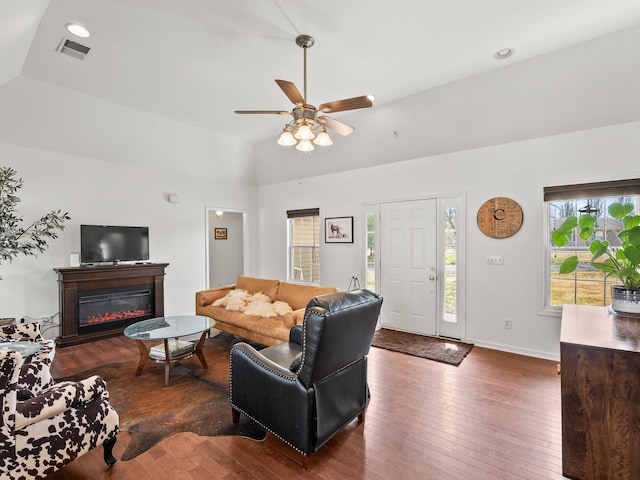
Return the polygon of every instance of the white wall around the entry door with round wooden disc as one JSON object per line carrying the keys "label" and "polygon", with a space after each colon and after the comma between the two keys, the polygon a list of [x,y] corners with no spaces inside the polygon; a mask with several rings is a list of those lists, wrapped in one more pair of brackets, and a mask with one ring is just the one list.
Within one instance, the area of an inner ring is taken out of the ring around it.
{"label": "white wall around the entry door with round wooden disc", "polygon": [[[319,207],[324,217],[355,217],[354,244],[321,245],[321,282],[347,288],[361,270],[363,203],[466,192],[467,341],[544,358],[559,358],[560,319],[543,307],[542,189],[545,185],[640,176],[640,122],[419,158],[258,188],[259,272],[286,278],[288,209]],[[313,161],[313,157],[307,161]],[[348,161],[348,159],[341,159]],[[523,209],[521,230],[508,239],[483,235],[480,205],[496,196]],[[484,263],[502,255],[502,266]],[[503,329],[504,317],[512,329]]]}

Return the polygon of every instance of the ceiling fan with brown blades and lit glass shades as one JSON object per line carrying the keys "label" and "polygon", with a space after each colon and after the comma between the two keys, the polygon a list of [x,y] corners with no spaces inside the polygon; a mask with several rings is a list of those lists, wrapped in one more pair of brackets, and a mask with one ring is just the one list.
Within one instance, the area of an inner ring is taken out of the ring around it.
{"label": "ceiling fan with brown blades and lit glass shades", "polygon": [[[318,108],[307,103],[307,49],[313,46],[314,40],[310,35],[298,35],[296,44],[304,52],[304,96],[292,82],[276,80],[278,86],[294,104],[293,110],[236,110],[235,113],[291,115],[293,120],[285,125],[278,137],[278,144],[284,146],[296,145],[298,150],[309,152],[314,149],[313,144],[331,145],[333,143],[327,133],[327,128],[343,136],[353,132],[353,127],[346,123],[320,114],[372,107],[373,97],[371,95],[363,95],[361,97],[345,98],[322,103]],[[311,143],[312,140],[313,143]]]}

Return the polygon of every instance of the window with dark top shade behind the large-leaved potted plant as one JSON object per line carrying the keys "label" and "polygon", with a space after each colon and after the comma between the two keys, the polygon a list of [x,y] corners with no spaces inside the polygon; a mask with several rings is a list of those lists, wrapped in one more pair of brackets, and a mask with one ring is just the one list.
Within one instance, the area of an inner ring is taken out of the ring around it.
{"label": "window with dark top shade behind the large-leaved potted plant", "polygon": [[[606,277],[591,265],[590,241],[583,241],[576,236],[569,244],[556,247],[551,234],[567,217],[590,214],[598,219],[592,239],[606,239],[615,246],[618,241],[617,232],[622,229],[622,225],[609,215],[608,208],[616,202],[633,203],[637,214],[639,198],[640,179],[544,188],[546,309],[559,310],[567,303],[611,304],[611,285],[618,285],[620,282],[616,277]],[[578,268],[573,273],[560,274],[560,264],[572,255],[578,255],[580,259]]]}

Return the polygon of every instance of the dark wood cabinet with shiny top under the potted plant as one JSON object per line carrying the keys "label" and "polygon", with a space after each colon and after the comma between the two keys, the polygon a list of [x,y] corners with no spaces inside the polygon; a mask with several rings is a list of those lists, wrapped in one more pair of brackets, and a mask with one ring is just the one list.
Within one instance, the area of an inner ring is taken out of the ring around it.
{"label": "dark wood cabinet with shiny top under the potted plant", "polygon": [[565,305],[560,335],[562,473],[640,478],[640,320]]}

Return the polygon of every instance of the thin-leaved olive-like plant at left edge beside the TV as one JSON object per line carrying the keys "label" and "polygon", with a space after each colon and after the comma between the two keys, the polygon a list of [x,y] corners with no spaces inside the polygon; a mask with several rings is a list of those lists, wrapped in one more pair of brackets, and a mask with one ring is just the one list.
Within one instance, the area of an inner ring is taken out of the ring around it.
{"label": "thin-leaved olive-like plant at left edge beside the TV", "polygon": [[44,252],[48,241],[58,238],[58,230],[64,230],[64,222],[71,220],[67,212],[52,210],[23,227],[23,217],[16,212],[20,202],[16,192],[22,183],[13,168],[0,168],[0,264],[19,255],[35,257]]}

